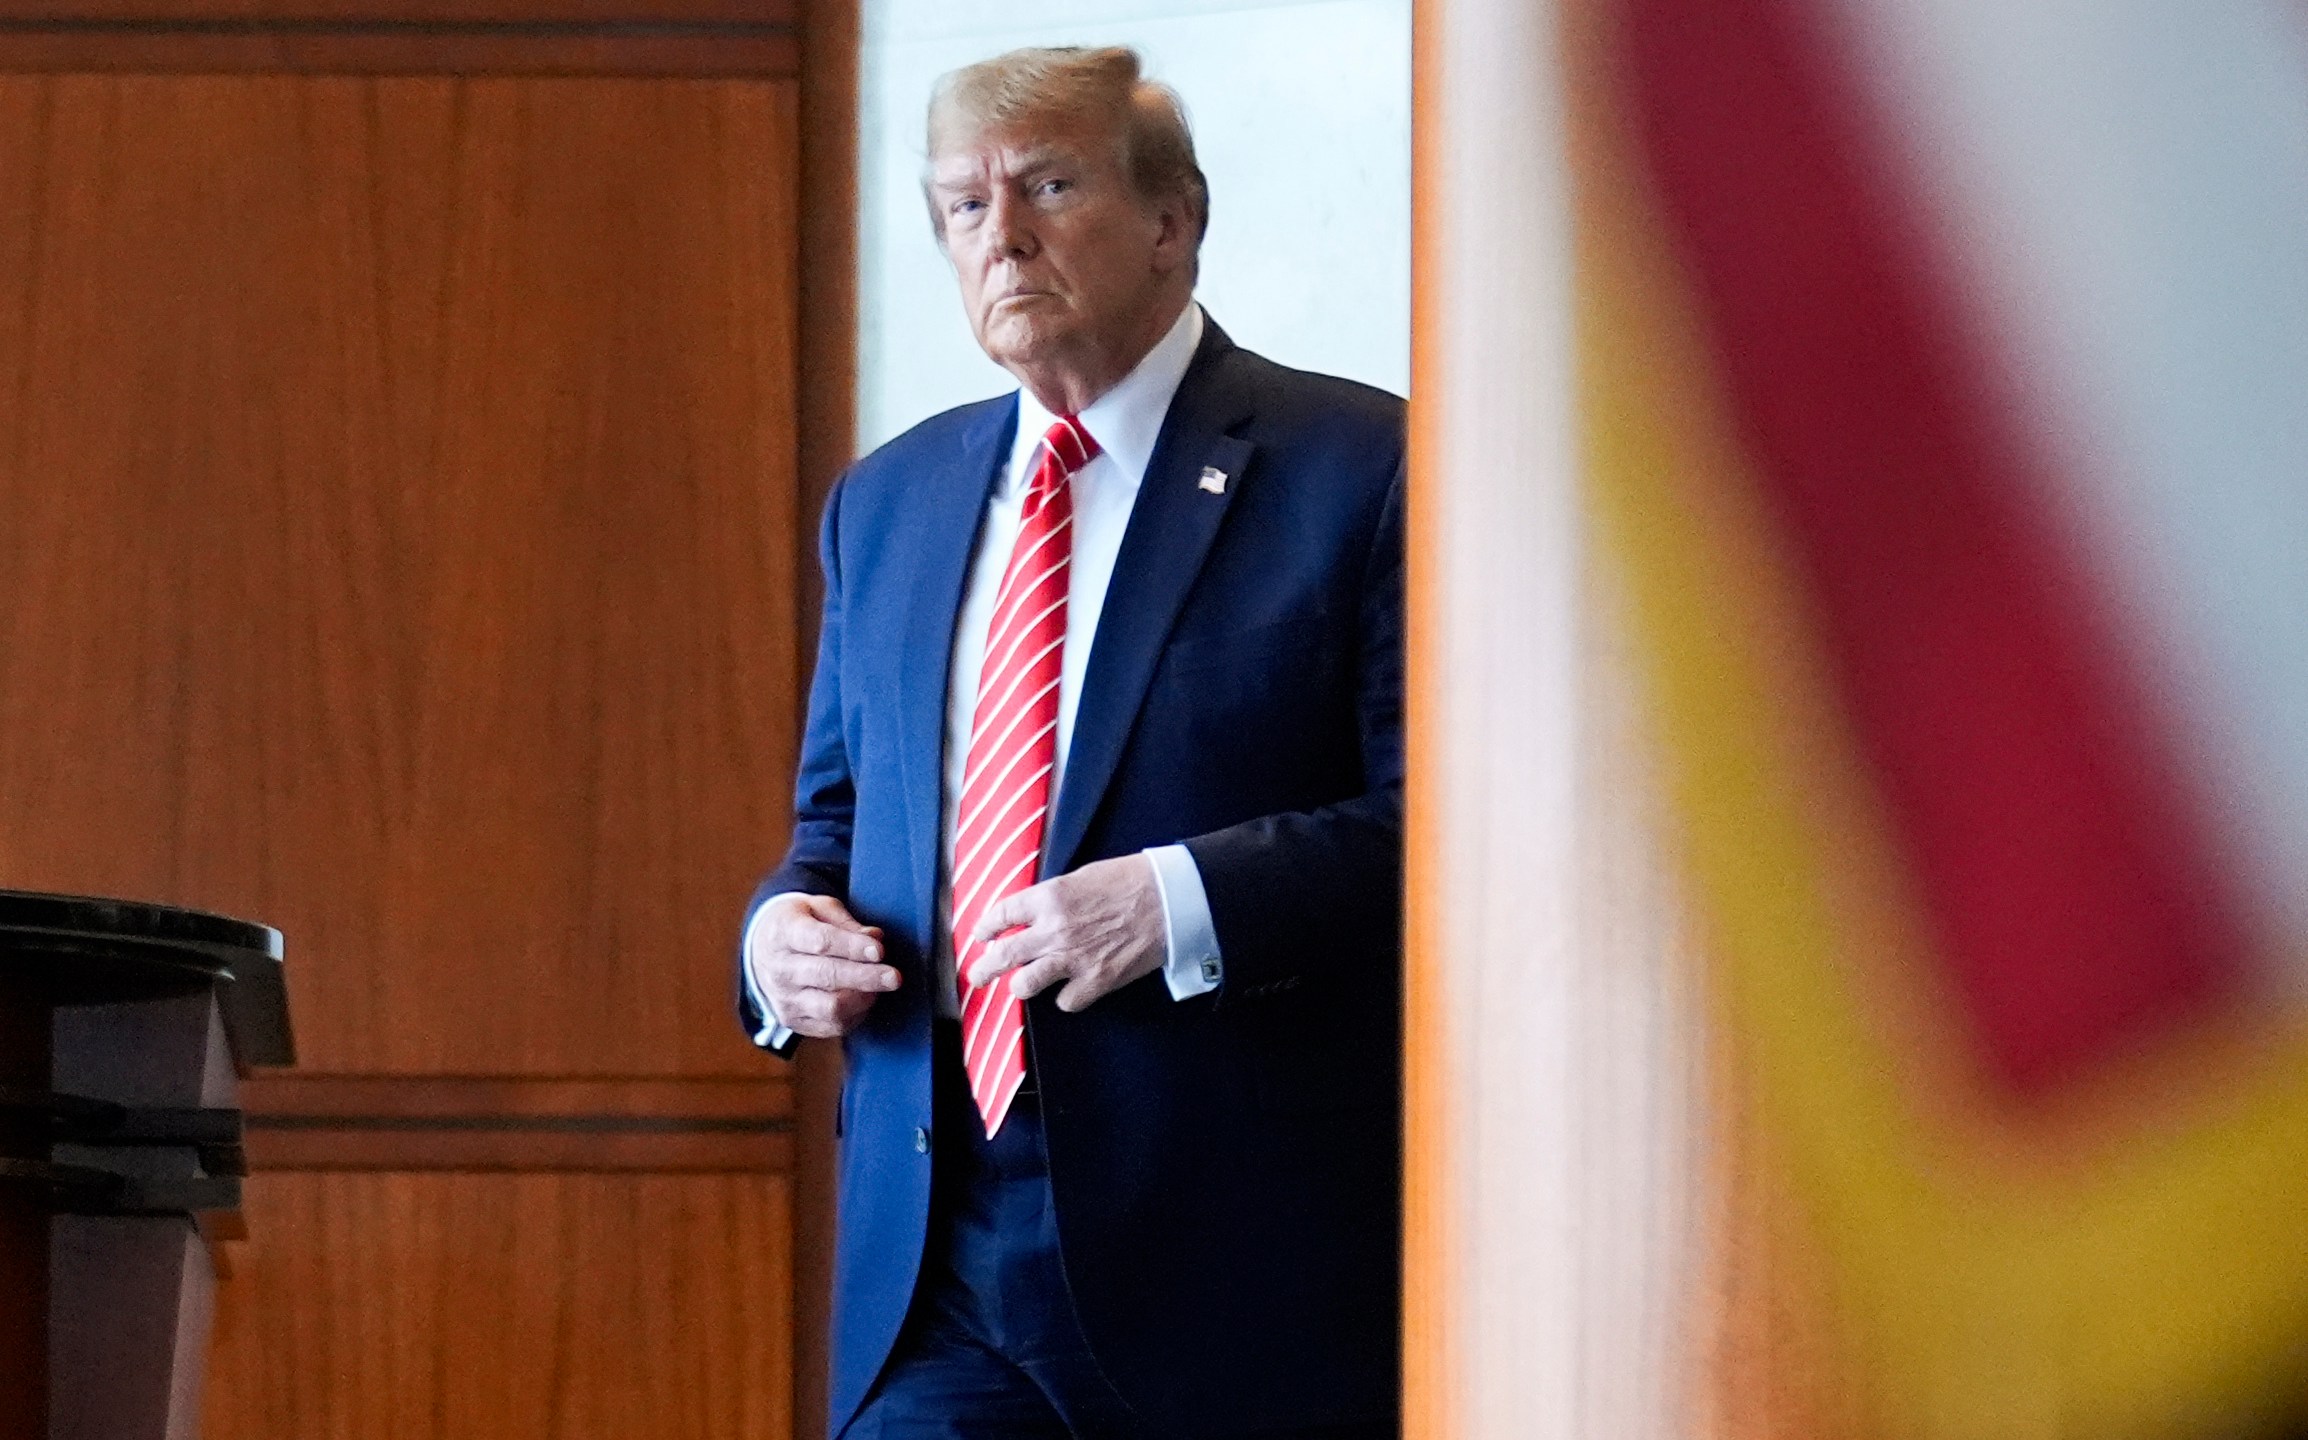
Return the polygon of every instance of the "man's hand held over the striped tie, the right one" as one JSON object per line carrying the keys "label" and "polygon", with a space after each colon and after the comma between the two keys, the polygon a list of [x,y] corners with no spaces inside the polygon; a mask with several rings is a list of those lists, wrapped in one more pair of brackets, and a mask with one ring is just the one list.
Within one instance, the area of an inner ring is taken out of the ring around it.
{"label": "man's hand held over the striped tie, the right one", "polygon": [[1009,976],[1025,999],[1064,981],[1062,1011],[1089,1008],[1154,974],[1170,951],[1154,861],[1142,854],[1092,861],[997,900],[974,935],[986,951],[969,967],[972,985]]}

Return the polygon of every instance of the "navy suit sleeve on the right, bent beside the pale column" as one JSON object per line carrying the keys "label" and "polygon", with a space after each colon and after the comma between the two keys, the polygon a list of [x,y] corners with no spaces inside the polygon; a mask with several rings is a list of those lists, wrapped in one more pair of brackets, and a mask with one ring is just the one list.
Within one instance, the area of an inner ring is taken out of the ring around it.
{"label": "navy suit sleeve on the right, bent beside the pale column", "polygon": [[1226,955],[1221,1002],[1292,990],[1355,967],[1392,983],[1403,925],[1403,489],[1396,466],[1357,616],[1362,794],[1193,835]]}

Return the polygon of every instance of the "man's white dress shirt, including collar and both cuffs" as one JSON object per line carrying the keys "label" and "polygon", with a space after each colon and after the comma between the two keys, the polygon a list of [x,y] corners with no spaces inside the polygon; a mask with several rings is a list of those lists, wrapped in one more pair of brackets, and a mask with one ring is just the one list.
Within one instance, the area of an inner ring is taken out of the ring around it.
{"label": "man's white dress shirt, including collar and both cuffs", "polygon": [[[1057,792],[1064,787],[1073,715],[1082,702],[1082,676],[1089,672],[1089,646],[1099,632],[1099,614],[1106,609],[1106,586],[1115,575],[1122,533],[1129,528],[1131,508],[1138,503],[1138,487],[1145,482],[1147,462],[1154,459],[1154,441],[1161,438],[1170,399],[1177,395],[1179,381],[1186,378],[1186,365],[1193,362],[1193,351],[1200,344],[1202,307],[1189,300],[1177,323],[1147,351],[1145,360],[1119,385],[1076,415],[1082,429],[1089,432],[1089,438],[1099,443],[1099,455],[1069,480],[1073,487],[1073,561],[1066,575],[1066,648],[1062,651],[1057,681],[1057,780],[1052,782],[1048,810],[1052,817],[1057,815]],[[1041,436],[1050,429],[1052,420],[1055,415],[1029,390],[1018,392],[1018,434],[1011,441],[1009,464],[986,498],[986,515],[979,522],[979,545],[962,588],[962,607],[953,623],[953,655],[946,669],[937,930],[932,937],[937,1013],[946,1018],[962,1013],[953,974],[953,937],[949,935],[951,895],[946,886],[953,875],[953,812],[962,794],[962,766],[969,762],[969,722],[979,702],[979,672],[986,665],[986,625],[992,621],[995,593],[1002,588],[1002,572],[1009,568],[1009,556],[1018,540],[1027,478],[1034,473],[1032,466],[1041,448]],[[1043,824],[1048,826],[1048,819]],[[1219,935],[1193,854],[1184,845],[1161,845],[1147,849],[1145,856],[1154,863],[1154,884],[1161,891],[1168,944],[1163,981],[1172,999],[1191,999],[1216,990],[1223,981]],[[769,1020],[762,1034],[755,1036],[755,1043],[785,1045],[792,1032],[775,1022],[752,978],[752,930],[762,923],[771,905],[775,905],[775,898],[764,902],[745,925],[745,985]]]}

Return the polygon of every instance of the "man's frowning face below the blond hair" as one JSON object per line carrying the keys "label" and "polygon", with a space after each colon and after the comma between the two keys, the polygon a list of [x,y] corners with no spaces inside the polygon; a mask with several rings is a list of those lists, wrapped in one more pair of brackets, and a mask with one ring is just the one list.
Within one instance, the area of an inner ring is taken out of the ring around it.
{"label": "man's frowning face below the blond hair", "polygon": [[1191,258],[1182,205],[1147,203],[1094,120],[962,134],[930,205],[979,346],[1002,367],[1099,362],[1152,344]]}

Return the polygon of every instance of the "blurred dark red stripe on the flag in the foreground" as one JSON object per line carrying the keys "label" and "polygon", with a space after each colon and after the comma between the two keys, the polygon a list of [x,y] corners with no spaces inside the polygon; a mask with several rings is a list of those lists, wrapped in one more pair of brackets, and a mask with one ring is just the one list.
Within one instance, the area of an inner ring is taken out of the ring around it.
{"label": "blurred dark red stripe on the flag in the foreground", "polygon": [[1994,1071],[2232,992],[2241,925],[2015,406],[1791,0],[1620,0],[1641,148],[1766,501]]}

